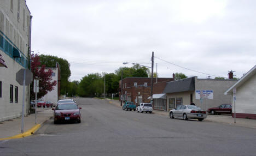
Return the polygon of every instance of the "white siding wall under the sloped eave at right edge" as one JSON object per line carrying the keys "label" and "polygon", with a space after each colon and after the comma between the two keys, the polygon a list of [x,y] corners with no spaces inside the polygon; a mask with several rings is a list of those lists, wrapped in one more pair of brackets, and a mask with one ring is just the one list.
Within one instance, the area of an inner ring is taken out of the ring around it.
{"label": "white siding wall under the sloped eave at right edge", "polygon": [[256,74],[236,88],[236,112],[256,114]]}

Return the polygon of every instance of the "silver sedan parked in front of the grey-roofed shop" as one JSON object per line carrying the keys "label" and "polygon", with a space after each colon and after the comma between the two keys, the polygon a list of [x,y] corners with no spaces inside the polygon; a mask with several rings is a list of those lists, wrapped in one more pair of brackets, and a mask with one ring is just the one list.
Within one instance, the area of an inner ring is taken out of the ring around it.
{"label": "silver sedan parked in front of the grey-roofed shop", "polygon": [[179,105],[176,109],[169,112],[170,118],[178,117],[187,120],[188,118],[198,119],[202,121],[206,118],[206,111],[194,105]]}

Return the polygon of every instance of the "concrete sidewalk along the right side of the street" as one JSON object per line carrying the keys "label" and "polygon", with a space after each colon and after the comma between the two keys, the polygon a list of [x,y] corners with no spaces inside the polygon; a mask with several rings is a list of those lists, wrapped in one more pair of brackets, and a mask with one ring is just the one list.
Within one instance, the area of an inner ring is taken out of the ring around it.
{"label": "concrete sidewalk along the right side of the street", "polygon": [[[119,100],[109,100],[109,103],[112,103],[121,108]],[[169,117],[169,112],[166,111],[153,110],[153,113]],[[234,123],[234,118],[232,118],[231,115],[207,115],[207,118],[204,121],[218,122],[256,129],[256,119],[236,118],[236,123]]]}

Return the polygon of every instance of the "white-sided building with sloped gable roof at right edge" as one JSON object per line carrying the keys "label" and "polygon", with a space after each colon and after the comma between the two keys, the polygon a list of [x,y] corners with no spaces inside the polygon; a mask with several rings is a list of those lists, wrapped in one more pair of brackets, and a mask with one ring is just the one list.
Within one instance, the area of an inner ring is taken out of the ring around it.
{"label": "white-sided building with sloped gable roof at right edge", "polygon": [[234,117],[234,104],[236,103],[236,117],[256,119],[256,65],[232,85],[225,94],[235,95],[234,88],[236,88],[236,101],[231,99],[232,116]]}

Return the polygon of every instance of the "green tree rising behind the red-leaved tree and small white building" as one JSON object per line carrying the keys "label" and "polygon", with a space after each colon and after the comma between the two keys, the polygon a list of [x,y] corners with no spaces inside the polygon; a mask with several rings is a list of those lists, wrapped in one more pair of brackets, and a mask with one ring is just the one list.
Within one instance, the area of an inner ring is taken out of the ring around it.
{"label": "green tree rising behind the red-leaved tree and small white building", "polygon": [[68,87],[68,79],[71,75],[71,71],[69,69],[70,64],[66,59],[59,58],[51,55],[40,55],[41,64],[45,64],[46,67],[56,67],[56,63],[60,65],[60,75],[61,75],[61,94],[65,94]]}

